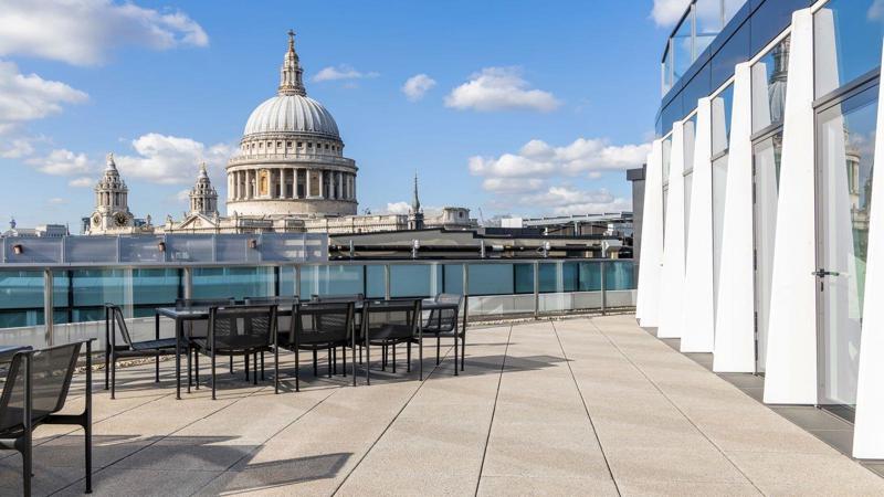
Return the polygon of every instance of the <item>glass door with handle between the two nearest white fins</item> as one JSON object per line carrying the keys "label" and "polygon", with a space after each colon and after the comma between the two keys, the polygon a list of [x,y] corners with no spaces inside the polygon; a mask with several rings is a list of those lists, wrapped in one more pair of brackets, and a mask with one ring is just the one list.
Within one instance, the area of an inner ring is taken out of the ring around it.
{"label": "glass door with handle between the two nearest white fins", "polygon": [[817,139],[822,283],[821,403],[856,402],[877,87],[820,113]]}

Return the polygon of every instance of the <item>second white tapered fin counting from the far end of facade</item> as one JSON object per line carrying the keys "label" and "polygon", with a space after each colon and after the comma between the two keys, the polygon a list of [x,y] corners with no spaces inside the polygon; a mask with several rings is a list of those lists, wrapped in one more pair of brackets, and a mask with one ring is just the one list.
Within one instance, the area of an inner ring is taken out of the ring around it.
{"label": "second white tapered fin counting from the far end of facade", "polygon": [[661,338],[681,338],[684,305],[684,129],[672,126],[670,190],[666,197],[666,230],[663,242],[663,268],[660,282]]}

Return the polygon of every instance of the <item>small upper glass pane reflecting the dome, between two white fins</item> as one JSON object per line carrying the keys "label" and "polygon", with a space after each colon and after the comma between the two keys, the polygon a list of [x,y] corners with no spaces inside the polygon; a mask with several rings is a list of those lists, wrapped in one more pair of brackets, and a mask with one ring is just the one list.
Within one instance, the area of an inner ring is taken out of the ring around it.
{"label": "small upper glass pane reflecting the dome, between two white fins", "polygon": [[782,123],[789,46],[787,36],[753,65],[753,131]]}

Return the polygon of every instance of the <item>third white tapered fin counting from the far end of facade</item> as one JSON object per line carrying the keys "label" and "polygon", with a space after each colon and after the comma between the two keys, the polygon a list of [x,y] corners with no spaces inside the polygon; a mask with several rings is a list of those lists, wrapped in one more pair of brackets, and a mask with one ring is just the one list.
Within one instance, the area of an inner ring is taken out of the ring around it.
{"label": "third white tapered fin counting from the far end of facade", "polygon": [[[714,303],[712,279],[712,105],[697,102],[694,172],[691,181],[691,212],[687,231],[687,258],[681,349],[683,352],[712,352]],[[686,187],[685,187],[686,188]],[[687,192],[685,192],[687,195]]]}

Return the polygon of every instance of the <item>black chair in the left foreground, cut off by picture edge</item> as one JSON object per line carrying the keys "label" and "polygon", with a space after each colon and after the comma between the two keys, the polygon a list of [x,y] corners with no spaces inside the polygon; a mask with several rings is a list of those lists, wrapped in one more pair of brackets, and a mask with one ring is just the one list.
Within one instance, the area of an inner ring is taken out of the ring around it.
{"label": "black chair in the left foreground, cut off by picture edge", "polygon": [[[86,408],[82,414],[57,414],[64,408],[80,350],[86,345]],[[31,495],[33,431],[41,424],[83,427],[86,494],[92,493],[92,343],[76,341],[12,357],[0,394],[0,450],[22,455],[24,495]]]}

